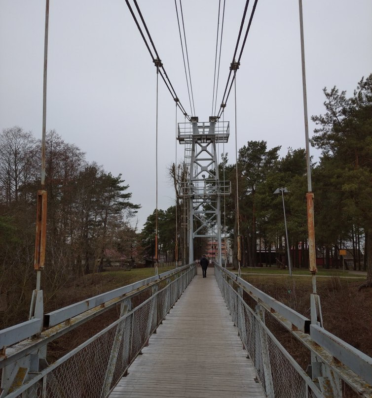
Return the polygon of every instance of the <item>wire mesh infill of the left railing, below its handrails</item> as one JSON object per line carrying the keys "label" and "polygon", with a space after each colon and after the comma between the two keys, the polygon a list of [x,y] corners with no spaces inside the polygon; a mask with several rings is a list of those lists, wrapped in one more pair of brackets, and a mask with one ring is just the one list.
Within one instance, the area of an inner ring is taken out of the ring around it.
{"label": "wire mesh infill of the left railing, below its handrails", "polygon": [[[53,364],[29,372],[31,379],[16,391],[2,391],[1,397],[107,397],[196,274],[195,265],[187,267],[149,286],[142,295],[133,296],[132,303],[141,301],[140,305]],[[131,299],[124,298],[122,304],[124,300]]]}

